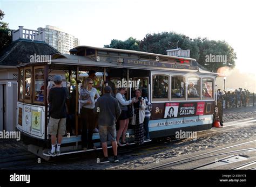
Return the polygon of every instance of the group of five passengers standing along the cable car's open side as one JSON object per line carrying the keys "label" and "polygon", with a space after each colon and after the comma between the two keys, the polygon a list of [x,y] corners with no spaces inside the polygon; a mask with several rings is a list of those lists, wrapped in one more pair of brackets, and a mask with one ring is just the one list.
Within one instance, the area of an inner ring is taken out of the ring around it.
{"label": "group of five passengers standing along the cable car's open side", "polygon": [[[114,162],[118,162],[117,147],[129,145],[129,142],[126,141],[126,132],[130,120],[130,124],[134,125],[134,142],[136,145],[142,145],[144,141],[150,140],[149,119],[152,104],[146,97],[142,97],[142,90],[140,89],[134,91],[132,99],[126,100],[127,88],[113,89],[111,83],[106,83],[104,94],[100,96],[97,89],[93,87],[96,78],[95,71],[90,71],[89,74],[90,77],[85,78],[79,93],[83,126],[82,149],[97,149],[92,141],[93,131],[97,129],[104,153],[100,162],[109,162],[107,141],[111,141]],[[59,75],[56,75],[53,81],[56,87],[48,88],[48,103],[50,104],[48,128],[52,143],[52,149],[48,153],[51,156],[56,156],[60,155],[59,148],[62,136],[65,134],[66,118],[64,113],[68,112],[65,103],[69,99],[69,95],[67,89],[61,86]],[[116,93],[113,93],[113,90],[116,90]],[[118,132],[116,132],[117,121],[119,121]]]}

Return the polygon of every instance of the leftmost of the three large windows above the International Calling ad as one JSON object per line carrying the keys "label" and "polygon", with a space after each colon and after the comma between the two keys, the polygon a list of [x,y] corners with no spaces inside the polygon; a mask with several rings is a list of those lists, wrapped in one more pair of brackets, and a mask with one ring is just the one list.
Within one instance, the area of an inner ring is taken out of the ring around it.
{"label": "leftmost of the three large windows above the International Calling ad", "polygon": [[169,76],[154,75],[153,76],[153,99],[168,99],[169,97]]}

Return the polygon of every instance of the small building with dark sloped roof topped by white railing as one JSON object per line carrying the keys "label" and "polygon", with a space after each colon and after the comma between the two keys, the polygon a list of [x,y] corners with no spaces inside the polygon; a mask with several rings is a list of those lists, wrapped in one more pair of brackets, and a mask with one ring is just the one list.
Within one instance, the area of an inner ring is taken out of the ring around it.
{"label": "small building with dark sloped roof topped by white railing", "polygon": [[0,131],[15,131],[17,110],[18,69],[20,63],[30,62],[31,55],[59,53],[46,44],[44,31],[19,26],[12,32],[12,43],[0,51]]}

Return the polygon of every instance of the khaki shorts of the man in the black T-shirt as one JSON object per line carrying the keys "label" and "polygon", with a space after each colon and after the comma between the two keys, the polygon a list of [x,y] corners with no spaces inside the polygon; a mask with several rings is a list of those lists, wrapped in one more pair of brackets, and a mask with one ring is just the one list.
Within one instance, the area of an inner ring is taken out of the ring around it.
{"label": "khaki shorts of the man in the black T-shirt", "polygon": [[66,131],[66,118],[55,119],[50,117],[48,124],[48,134],[64,135]]}

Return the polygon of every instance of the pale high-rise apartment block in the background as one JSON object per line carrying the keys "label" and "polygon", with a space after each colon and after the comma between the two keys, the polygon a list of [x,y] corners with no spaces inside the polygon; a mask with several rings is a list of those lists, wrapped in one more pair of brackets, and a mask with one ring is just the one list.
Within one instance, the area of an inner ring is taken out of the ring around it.
{"label": "pale high-rise apartment block in the background", "polygon": [[79,46],[78,38],[68,34],[58,27],[46,25],[45,28],[37,28],[45,31],[45,42],[57,49],[62,54],[69,54],[69,50]]}

